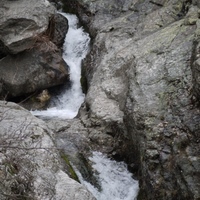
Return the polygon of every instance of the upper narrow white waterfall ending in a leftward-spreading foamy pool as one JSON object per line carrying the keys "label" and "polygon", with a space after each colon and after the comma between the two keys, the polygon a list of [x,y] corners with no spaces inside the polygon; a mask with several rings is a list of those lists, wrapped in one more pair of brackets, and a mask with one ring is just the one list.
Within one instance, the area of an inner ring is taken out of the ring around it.
{"label": "upper narrow white waterfall ending in a leftward-spreading foamy pool", "polygon": [[40,117],[72,119],[77,115],[85,98],[80,84],[81,61],[88,52],[90,37],[88,33],[84,32],[82,27],[77,26],[78,18],[76,15],[61,14],[68,19],[69,23],[69,30],[63,46],[63,59],[70,67],[72,86],[54,98],[54,107],[42,111],[32,111],[32,114]]}

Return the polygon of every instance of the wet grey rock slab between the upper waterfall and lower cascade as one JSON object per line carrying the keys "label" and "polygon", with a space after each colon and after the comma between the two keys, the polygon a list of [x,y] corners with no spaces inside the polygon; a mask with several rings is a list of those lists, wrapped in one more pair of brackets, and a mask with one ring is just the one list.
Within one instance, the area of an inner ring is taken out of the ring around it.
{"label": "wet grey rock slab between the upper waterfall and lower cascade", "polygon": [[[65,164],[70,161],[85,181],[100,188],[100,184],[93,174],[91,162],[88,159],[91,156],[91,150],[97,150],[97,144],[94,144],[90,135],[91,131],[84,127],[79,119],[49,119],[46,122],[48,127],[55,133],[55,144],[61,151]],[[102,150],[102,146],[100,148]],[[66,165],[66,167],[69,168],[70,166]],[[71,173],[71,176],[73,177],[74,174]]]}

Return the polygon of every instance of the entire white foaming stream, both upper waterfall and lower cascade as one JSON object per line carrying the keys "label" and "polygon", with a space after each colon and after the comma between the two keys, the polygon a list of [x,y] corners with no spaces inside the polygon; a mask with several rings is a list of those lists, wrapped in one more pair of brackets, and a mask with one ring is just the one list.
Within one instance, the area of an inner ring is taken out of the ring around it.
{"label": "entire white foaming stream, both upper waterfall and lower cascade", "polygon": [[[78,27],[78,18],[75,15],[62,13],[69,23],[69,30],[63,46],[63,58],[70,67],[71,88],[54,99],[56,106],[43,111],[32,111],[38,117],[57,117],[73,119],[84,101],[80,77],[81,61],[85,58],[90,43],[89,34]],[[93,152],[89,158],[93,163],[96,176],[101,183],[101,191],[86,182],[77,171],[83,185],[97,198],[97,200],[134,200],[136,199],[139,185],[132,178],[124,162],[110,160],[100,152]]]}

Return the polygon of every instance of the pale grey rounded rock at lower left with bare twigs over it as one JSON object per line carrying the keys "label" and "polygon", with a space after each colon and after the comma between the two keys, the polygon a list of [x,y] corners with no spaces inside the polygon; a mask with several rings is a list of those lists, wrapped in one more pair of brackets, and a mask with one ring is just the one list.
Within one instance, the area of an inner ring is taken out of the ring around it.
{"label": "pale grey rounded rock at lower left with bare twigs over it", "polygon": [[63,171],[53,133],[27,110],[0,101],[0,199],[95,200]]}

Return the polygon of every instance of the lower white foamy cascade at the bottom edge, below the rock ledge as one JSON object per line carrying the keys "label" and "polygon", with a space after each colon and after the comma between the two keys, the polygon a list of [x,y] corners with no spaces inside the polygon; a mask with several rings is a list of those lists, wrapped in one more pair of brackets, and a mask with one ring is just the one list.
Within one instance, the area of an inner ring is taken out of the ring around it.
{"label": "lower white foamy cascade at the bottom edge, below the rock ledge", "polygon": [[110,160],[100,152],[93,152],[90,157],[93,169],[97,172],[97,179],[101,184],[98,191],[90,183],[83,180],[78,172],[79,179],[83,185],[96,197],[97,200],[136,200],[139,184],[132,178],[124,162]]}

